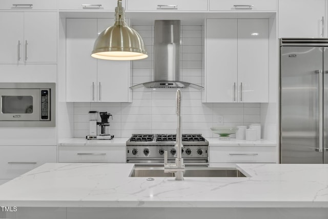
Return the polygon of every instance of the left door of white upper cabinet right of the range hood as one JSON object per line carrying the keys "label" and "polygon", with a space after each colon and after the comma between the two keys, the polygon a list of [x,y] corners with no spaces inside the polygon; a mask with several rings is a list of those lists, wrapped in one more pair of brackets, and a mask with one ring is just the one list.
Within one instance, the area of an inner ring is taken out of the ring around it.
{"label": "left door of white upper cabinet right of the range hood", "polygon": [[237,101],[237,19],[207,19],[206,102]]}

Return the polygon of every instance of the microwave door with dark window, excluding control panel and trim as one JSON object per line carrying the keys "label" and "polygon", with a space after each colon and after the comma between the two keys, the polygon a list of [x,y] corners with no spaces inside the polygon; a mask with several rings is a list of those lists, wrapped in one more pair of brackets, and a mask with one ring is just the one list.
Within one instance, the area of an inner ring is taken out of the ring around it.
{"label": "microwave door with dark window, excluding control panel and trim", "polygon": [[40,121],[39,89],[0,89],[0,121]]}

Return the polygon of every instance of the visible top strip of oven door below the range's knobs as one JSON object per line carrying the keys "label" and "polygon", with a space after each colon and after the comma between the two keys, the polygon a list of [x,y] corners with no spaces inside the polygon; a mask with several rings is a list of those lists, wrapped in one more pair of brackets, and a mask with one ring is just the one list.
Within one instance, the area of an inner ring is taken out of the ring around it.
{"label": "visible top strip of oven door below the range's knobs", "polygon": [[[134,164],[135,167],[163,167],[163,160],[127,160],[127,163]],[[175,163],[175,160],[168,160],[168,163]],[[207,160],[183,160],[186,167],[209,167]]]}

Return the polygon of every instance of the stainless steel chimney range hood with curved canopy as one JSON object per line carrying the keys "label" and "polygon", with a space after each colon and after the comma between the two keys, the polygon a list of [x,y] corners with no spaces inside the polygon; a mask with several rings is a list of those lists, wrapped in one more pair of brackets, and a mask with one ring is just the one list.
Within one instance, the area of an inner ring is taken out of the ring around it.
{"label": "stainless steel chimney range hood with curved canopy", "polygon": [[131,89],[203,87],[180,82],[180,21],[156,20],[154,43],[154,81],[138,84]]}

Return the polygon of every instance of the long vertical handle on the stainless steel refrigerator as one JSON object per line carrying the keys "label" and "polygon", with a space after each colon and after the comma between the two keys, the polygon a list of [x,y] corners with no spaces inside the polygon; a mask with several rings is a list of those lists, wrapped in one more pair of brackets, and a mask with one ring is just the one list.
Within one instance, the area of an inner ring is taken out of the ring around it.
{"label": "long vertical handle on the stainless steel refrigerator", "polygon": [[317,70],[319,74],[319,152],[323,151],[323,71]]}

